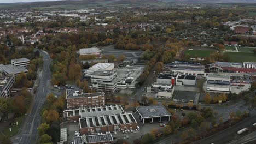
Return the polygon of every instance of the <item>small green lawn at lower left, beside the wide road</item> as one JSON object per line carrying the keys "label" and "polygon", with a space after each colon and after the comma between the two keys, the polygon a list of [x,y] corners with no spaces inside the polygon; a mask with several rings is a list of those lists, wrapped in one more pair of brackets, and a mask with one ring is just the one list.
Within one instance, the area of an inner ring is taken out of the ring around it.
{"label": "small green lawn at lower left, beside the wide road", "polygon": [[[16,135],[18,133],[18,130],[24,118],[25,116],[15,118],[14,122],[16,123],[18,121],[18,125],[11,125],[10,127],[6,127],[3,130],[4,135],[9,137]],[[10,131],[10,128],[11,128],[11,131]]]}

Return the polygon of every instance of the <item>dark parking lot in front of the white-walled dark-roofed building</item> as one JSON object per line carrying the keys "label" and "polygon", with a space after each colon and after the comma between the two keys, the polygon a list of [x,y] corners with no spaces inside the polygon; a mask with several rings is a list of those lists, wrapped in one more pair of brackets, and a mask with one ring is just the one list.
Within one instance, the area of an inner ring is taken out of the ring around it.
{"label": "dark parking lot in front of the white-walled dark-roofed building", "polygon": [[193,103],[195,103],[197,96],[199,96],[197,92],[174,91],[173,100],[183,103],[188,103],[190,100],[193,100]]}

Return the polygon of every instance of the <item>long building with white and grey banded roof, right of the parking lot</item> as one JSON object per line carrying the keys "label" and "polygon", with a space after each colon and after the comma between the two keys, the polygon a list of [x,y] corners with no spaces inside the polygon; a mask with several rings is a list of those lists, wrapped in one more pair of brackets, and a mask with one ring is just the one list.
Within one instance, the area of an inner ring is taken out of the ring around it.
{"label": "long building with white and grey banded roof, right of the parking lot", "polygon": [[230,76],[209,74],[207,77],[206,91],[230,92]]}

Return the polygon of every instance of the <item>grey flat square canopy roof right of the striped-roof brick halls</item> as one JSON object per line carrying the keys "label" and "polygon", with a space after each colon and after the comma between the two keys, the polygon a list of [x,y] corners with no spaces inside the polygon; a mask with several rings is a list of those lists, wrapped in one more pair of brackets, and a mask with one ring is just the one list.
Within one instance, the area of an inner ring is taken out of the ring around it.
{"label": "grey flat square canopy roof right of the striped-roof brick halls", "polygon": [[171,116],[164,105],[149,105],[136,107],[142,118],[160,117],[160,116]]}

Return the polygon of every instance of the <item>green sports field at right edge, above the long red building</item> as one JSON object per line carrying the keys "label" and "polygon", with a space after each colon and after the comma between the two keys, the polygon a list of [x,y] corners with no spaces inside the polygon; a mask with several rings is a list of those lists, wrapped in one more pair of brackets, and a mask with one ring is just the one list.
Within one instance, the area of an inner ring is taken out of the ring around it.
{"label": "green sports field at right edge, above the long red building", "polygon": [[226,52],[230,56],[231,62],[256,62],[254,53],[245,52]]}

